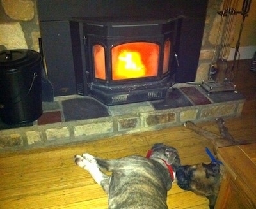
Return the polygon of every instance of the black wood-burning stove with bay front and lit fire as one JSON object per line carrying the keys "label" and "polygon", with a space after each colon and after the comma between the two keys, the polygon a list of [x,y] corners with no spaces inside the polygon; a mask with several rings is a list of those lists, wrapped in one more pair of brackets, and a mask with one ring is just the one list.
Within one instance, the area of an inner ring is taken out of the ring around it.
{"label": "black wood-burning stove with bay front and lit fire", "polygon": [[90,94],[106,105],[163,99],[181,18],[74,19],[83,25]]}

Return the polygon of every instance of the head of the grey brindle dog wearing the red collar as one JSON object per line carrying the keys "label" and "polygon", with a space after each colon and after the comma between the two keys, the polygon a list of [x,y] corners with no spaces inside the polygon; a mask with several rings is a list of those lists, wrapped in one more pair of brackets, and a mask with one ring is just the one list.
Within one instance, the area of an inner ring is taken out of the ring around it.
{"label": "head of the grey brindle dog wearing the red collar", "polygon": [[172,165],[174,171],[180,166],[179,153],[174,147],[164,145],[163,143],[156,143],[151,150],[152,158],[163,159],[167,164]]}

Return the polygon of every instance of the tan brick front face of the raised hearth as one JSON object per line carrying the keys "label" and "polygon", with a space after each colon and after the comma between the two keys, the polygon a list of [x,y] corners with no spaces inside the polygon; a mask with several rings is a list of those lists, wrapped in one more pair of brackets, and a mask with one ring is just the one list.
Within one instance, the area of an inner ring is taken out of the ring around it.
{"label": "tan brick front face of the raised hearth", "polygon": [[[184,86],[188,85],[180,84],[177,85],[177,88]],[[1,130],[0,152],[62,145],[77,141],[92,141],[110,136],[164,129],[180,126],[187,120],[202,122],[215,120],[216,117],[232,118],[241,115],[245,101],[243,96],[239,96],[238,99],[236,96],[231,101],[214,102],[211,96],[207,95],[200,87],[196,87],[196,89],[199,89],[211,103],[196,105],[193,102],[195,95],[192,97],[186,95],[193,104],[192,106],[155,110],[152,103],[147,101],[110,106],[111,116],[109,117],[54,122],[40,126],[35,122],[33,126],[29,127]],[[56,98],[56,101],[61,99],[63,97]]]}

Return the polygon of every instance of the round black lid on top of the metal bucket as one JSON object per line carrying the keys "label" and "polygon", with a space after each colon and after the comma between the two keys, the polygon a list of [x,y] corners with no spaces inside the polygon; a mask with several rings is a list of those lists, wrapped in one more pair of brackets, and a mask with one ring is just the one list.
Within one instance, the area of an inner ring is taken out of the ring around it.
{"label": "round black lid on top of the metal bucket", "polygon": [[40,53],[33,50],[4,50],[0,52],[0,70],[28,68],[41,60]]}

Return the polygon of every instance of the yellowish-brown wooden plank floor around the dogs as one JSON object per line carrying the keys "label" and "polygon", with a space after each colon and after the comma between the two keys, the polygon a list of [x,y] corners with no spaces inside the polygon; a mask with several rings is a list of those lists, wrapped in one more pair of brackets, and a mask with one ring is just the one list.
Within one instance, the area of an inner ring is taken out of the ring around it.
{"label": "yellowish-brown wooden plank floor around the dogs", "polygon": [[[255,140],[256,72],[239,69],[234,83],[246,96],[243,114],[226,120],[235,138]],[[199,124],[218,133],[214,122]],[[182,164],[209,162],[205,147],[211,142],[186,127],[118,136],[64,147],[0,154],[0,208],[107,208],[107,196],[90,175],[74,164],[73,156],[89,152],[103,158],[146,155],[154,143],[176,147]],[[183,191],[174,182],[168,192],[169,208],[208,208],[206,198]]]}

